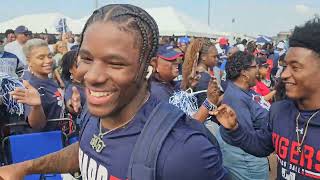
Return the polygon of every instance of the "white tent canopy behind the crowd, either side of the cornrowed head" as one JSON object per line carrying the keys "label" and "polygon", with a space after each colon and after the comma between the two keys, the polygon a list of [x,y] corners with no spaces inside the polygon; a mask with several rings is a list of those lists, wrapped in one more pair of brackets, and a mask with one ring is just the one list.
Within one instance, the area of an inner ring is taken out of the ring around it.
{"label": "white tent canopy behind the crowd, either side of the cornrowed head", "polygon": [[[206,24],[195,21],[187,15],[177,12],[172,7],[159,7],[146,9],[156,20],[160,35],[162,36],[198,36],[198,37],[218,37],[226,36],[227,33],[217,33]],[[6,29],[14,29],[17,26],[25,25],[32,32],[57,33],[55,25],[60,18],[66,18],[69,29],[76,34],[80,34],[88,17],[72,19],[60,13],[45,13],[24,15],[0,23],[0,32]]]}

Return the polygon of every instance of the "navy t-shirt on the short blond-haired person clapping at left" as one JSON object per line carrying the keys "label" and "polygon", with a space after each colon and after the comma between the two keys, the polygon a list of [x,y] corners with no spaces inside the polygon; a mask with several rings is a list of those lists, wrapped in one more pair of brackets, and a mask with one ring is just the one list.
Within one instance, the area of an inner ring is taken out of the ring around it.
{"label": "navy t-shirt on the short blond-haired person clapping at left", "polygon": [[[47,119],[62,118],[64,115],[64,102],[63,95],[59,92],[59,86],[52,79],[40,79],[32,75],[29,71],[25,71],[23,79],[29,81],[29,83],[36,89],[40,94],[41,105],[44,114]],[[24,105],[25,118],[28,120],[28,115],[31,111],[31,106]],[[60,127],[57,123],[49,123],[43,129],[43,131],[56,130]]]}

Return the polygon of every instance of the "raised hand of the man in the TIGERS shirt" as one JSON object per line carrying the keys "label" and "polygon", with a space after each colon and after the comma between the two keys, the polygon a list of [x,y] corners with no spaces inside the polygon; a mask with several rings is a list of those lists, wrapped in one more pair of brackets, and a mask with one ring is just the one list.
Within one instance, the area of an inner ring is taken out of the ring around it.
{"label": "raised hand of the man in the TIGERS shirt", "polygon": [[238,128],[237,115],[234,110],[226,104],[222,104],[215,111],[209,112],[209,114],[216,116],[220,124],[226,129],[233,131]]}

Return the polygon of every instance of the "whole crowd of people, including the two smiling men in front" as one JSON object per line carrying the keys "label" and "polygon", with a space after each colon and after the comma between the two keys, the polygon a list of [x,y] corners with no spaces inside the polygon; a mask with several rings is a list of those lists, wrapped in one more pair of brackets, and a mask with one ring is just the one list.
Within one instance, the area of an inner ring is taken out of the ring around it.
{"label": "whole crowd of people, including the two smiling men in front", "polygon": [[143,9],[107,5],[80,36],[36,37],[25,26],[5,36],[0,73],[23,82],[8,93],[24,113],[9,113],[2,98],[1,124],[28,125],[7,135],[65,130],[49,120],[69,115],[80,131],[61,151],[0,167],[3,179],[80,171],[83,179],[265,180],[272,153],[277,179],[320,179],[319,18],[288,42],[231,44],[160,37]]}

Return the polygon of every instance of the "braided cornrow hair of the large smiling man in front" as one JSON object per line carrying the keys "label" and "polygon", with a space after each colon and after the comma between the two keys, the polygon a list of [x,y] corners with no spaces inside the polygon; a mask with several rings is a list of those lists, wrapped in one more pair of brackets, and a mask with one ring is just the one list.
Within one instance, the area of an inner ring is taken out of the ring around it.
{"label": "braided cornrow hair of the large smiling man in front", "polygon": [[150,61],[156,56],[158,50],[159,30],[157,23],[145,10],[139,7],[130,4],[106,5],[95,10],[87,20],[81,33],[80,47],[88,26],[95,22],[107,21],[117,23],[121,31],[135,33],[136,45],[140,46],[140,69],[136,81],[143,80],[143,77],[147,74]]}

